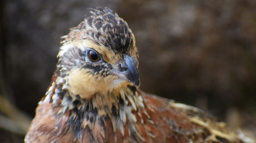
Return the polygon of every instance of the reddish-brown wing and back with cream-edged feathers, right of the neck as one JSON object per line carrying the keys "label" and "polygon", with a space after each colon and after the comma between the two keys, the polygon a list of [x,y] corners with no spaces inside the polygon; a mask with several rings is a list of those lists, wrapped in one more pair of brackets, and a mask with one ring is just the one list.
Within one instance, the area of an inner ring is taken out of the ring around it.
{"label": "reddish-brown wing and back with cream-edged feathers, right of the neck", "polygon": [[237,132],[200,109],[145,93],[142,97],[147,115],[139,110],[136,117],[144,122],[137,128],[150,140],[145,142],[243,142]]}

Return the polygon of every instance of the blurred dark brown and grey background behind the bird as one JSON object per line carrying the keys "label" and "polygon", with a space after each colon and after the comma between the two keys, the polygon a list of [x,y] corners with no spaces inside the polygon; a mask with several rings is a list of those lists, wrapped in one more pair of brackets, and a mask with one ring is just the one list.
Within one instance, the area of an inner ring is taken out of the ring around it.
{"label": "blurred dark brown and grey background behind the bird", "polygon": [[132,29],[141,89],[197,106],[256,136],[256,1],[0,2],[0,142],[23,142],[57,62],[60,36],[109,7]]}

